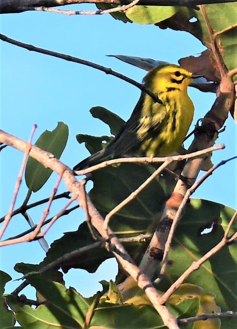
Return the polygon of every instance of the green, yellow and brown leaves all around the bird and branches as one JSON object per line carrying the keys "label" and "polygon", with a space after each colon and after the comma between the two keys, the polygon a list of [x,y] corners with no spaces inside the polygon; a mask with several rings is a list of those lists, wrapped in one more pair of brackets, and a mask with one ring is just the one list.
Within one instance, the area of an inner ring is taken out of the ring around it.
{"label": "green, yellow and brown leaves all around the bird and branches", "polygon": [[[113,4],[97,4],[99,9],[114,7]],[[219,52],[219,59],[227,67],[227,71],[234,70],[237,66],[235,11],[234,3],[205,5],[199,11],[188,7],[133,6],[125,12],[112,13],[112,16],[125,23],[156,24],[162,29],[171,28],[190,32],[207,46],[208,50],[198,58],[180,59],[180,63],[192,72],[195,71],[195,67],[198,67],[199,71],[205,74],[207,81],[219,84],[221,74],[216,52]],[[193,18],[194,21],[192,21]],[[213,42],[216,42],[216,52],[213,49]],[[145,69],[154,64],[149,59],[143,61],[129,56],[117,57]],[[232,78],[236,80],[237,75],[233,74]],[[208,88],[205,91],[213,91]],[[112,136],[100,137],[84,134],[76,136],[77,141],[85,142],[86,148],[93,154],[113,140],[125,121],[108,109],[99,106],[93,107],[90,113],[94,118],[108,124],[112,134]],[[36,146],[51,153],[51,157],[59,159],[66,147],[68,133],[68,126],[63,122],[58,122],[52,132],[47,130],[40,136]],[[181,167],[184,164],[181,163]],[[105,218],[154,173],[157,165],[124,163],[91,172],[88,179],[93,182],[93,188],[89,192],[89,197],[100,215]],[[179,174],[182,168],[172,169]],[[45,168],[43,164],[33,158],[28,159],[25,179],[29,193],[24,206],[27,206],[31,192],[41,189],[51,173],[52,170]],[[156,176],[136,198],[112,216],[109,226],[116,236],[122,239],[150,234],[151,237],[157,226],[157,218],[162,213],[164,204],[172,194],[175,184],[175,177],[169,171],[163,171],[162,174]],[[192,262],[201,259],[222,240],[233,215],[234,210],[225,205],[203,199],[190,199],[172,240],[165,276],[158,286],[161,295]],[[208,233],[207,229],[209,229]],[[234,223],[229,235],[236,231],[237,224]],[[149,241],[150,239],[124,242],[126,250],[138,266],[144,257]],[[80,248],[86,250],[74,257],[64,257]],[[221,248],[198,270],[193,271],[186,279],[186,283],[168,298],[166,306],[174,317],[186,318],[203,313],[217,313],[220,309],[224,312],[236,308],[237,285],[233,275],[237,264],[236,248],[236,243]],[[135,281],[134,286],[130,287],[131,295],[127,299],[124,298],[123,291],[120,291],[118,286],[118,283],[124,279],[124,269],[121,267],[116,282],[103,282],[103,290],[92,297],[85,298],[74,288],[65,287],[60,268],[64,273],[71,268],[95,272],[102,262],[114,257],[112,251],[108,252],[105,248],[101,248],[100,243],[94,241],[88,222],[85,221],[77,231],[66,232],[60,239],[53,241],[45,259],[40,264],[16,264],[15,270],[23,273],[24,278],[37,291],[36,308],[32,307],[32,301],[26,303],[15,294],[3,294],[5,284],[11,278],[7,273],[0,271],[0,286],[3,295],[0,303],[2,315],[0,329],[13,328],[16,320],[25,329],[59,326],[62,328],[165,328],[161,316],[144,291],[138,289]],[[45,266],[51,265],[52,262],[57,263],[49,271],[44,272]],[[157,269],[155,276],[159,276],[159,273],[160,268]],[[11,310],[7,308],[7,305]],[[196,321],[181,325],[180,328],[202,329],[207,326],[210,329],[220,328],[220,320]],[[236,326],[237,318],[222,320],[221,328],[223,329],[234,329]]]}

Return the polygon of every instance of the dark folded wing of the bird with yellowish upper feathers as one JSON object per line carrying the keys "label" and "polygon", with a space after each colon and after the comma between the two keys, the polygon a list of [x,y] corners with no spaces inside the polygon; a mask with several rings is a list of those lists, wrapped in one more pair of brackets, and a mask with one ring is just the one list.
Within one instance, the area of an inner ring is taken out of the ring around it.
{"label": "dark folded wing of the bird with yellowish upper feathers", "polygon": [[106,154],[112,153],[114,158],[126,155],[132,148],[138,147],[144,140],[154,138],[159,134],[160,124],[167,115],[166,107],[163,104],[153,104],[155,115],[154,113],[148,113],[147,116],[143,116],[142,120],[141,113],[144,97],[145,95],[142,93],[131,117],[106,148]]}

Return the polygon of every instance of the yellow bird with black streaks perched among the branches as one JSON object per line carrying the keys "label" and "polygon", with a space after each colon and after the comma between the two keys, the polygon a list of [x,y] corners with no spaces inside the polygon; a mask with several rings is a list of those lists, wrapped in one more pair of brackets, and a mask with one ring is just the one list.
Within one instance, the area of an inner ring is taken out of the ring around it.
{"label": "yellow bird with black streaks perched among the branches", "polygon": [[175,65],[153,68],[144,77],[145,86],[162,104],[142,91],[131,117],[108,146],[91,155],[73,170],[81,170],[123,156],[164,156],[176,151],[184,141],[193,119],[194,106],[188,85],[199,78]]}

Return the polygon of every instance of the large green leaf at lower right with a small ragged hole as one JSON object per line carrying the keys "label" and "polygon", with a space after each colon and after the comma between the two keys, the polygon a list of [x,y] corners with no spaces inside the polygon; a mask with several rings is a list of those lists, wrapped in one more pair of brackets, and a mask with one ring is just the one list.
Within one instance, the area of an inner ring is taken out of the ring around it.
{"label": "large green leaf at lower right with a small ragged hole", "polygon": [[[167,281],[159,289],[167,289],[191,264],[200,259],[224,236],[234,209],[219,203],[191,199],[184,217],[175,231],[174,241],[169,251]],[[208,234],[201,234],[212,227]],[[235,221],[229,235],[237,230]],[[200,268],[186,279],[216,295],[216,304],[221,311],[234,310],[237,304],[237,245],[223,247],[211,256]],[[237,327],[237,318],[222,319],[223,328]],[[224,325],[225,323],[225,325]]]}

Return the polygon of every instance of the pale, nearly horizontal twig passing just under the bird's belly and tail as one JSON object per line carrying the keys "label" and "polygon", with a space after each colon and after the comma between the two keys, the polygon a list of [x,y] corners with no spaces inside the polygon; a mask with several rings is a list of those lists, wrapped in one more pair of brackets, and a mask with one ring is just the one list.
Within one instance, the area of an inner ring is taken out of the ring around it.
{"label": "pale, nearly horizontal twig passing just under the bird's belly and tail", "polygon": [[217,146],[211,146],[211,147],[205,148],[203,150],[200,150],[197,152],[192,152],[189,154],[184,154],[184,155],[174,155],[174,156],[169,156],[169,157],[155,157],[155,158],[153,158],[153,157],[133,157],[133,158],[112,159],[112,160],[104,161],[100,164],[93,165],[87,169],[77,170],[77,171],[75,171],[75,174],[76,175],[86,175],[89,172],[92,172],[94,170],[107,167],[108,165],[111,165],[111,164],[119,164],[119,163],[156,163],[156,162],[165,162],[169,159],[171,159],[172,161],[182,161],[182,160],[186,160],[186,159],[190,159],[190,158],[199,157],[200,155],[203,155],[203,154],[206,154],[209,152],[213,152],[215,150],[221,150],[224,148],[225,148],[225,144],[222,143]]}

